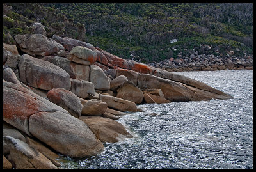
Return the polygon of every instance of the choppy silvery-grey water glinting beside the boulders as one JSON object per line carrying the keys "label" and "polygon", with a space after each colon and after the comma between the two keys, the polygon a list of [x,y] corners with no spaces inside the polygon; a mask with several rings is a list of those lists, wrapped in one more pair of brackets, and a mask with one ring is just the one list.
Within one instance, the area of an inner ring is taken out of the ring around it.
{"label": "choppy silvery-grey water glinting beside the boulders", "polygon": [[[134,137],[64,168],[253,168],[253,71],[176,72],[234,99],[141,104],[119,120]],[[150,115],[156,113],[157,115]]]}

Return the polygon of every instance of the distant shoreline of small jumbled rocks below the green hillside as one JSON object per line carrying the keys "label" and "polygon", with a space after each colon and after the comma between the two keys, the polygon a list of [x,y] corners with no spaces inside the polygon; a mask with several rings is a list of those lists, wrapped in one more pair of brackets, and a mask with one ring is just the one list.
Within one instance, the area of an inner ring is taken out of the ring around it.
{"label": "distant shoreline of small jumbled rocks below the green hillside", "polygon": [[183,71],[214,71],[214,70],[253,70],[253,56],[244,54],[243,57],[232,56],[233,51],[226,56],[205,55],[194,52],[190,56],[179,56],[179,58],[166,59],[159,63],[148,63],[147,65],[161,68],[169,72]]}

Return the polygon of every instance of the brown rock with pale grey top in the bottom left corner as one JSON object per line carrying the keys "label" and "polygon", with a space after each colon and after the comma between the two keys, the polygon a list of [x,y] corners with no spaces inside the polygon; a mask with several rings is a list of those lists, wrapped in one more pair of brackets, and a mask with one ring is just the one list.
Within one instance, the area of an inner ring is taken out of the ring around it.
{"label": "brown rock with pale grey top in the bottom left corner", "polygon": [[10,145],[11,150],[8,159],[15,164],[15,169],[54,169],[57,168],[38,150],[35,150],[27,143],[14,139],[11,136],[3,137],[5,143]]}

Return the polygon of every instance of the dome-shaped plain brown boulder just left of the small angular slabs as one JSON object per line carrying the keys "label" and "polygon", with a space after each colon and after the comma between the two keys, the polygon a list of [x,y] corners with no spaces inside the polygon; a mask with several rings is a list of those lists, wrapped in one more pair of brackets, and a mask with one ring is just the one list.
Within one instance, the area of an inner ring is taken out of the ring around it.
{"label": "dome-shaped plain brown boulder just left of the small angular slabs", "polygon": [[116,97],[140,104],[143,101],[143,92],[131,81],[125,81],[118,88]]}

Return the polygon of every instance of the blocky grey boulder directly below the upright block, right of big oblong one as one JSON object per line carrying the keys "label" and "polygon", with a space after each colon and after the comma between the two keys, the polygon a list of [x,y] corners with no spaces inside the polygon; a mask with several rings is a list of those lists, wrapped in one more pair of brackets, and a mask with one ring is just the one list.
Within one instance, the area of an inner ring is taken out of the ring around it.
{"label": "blocky grey boulder directly below the upright block, right of big oblong one", "polygon": [[82,79],[72,79],[70,91],[81,98],[88,98],[89,95],[95,95],[94,85],[92,82],[85,81]]}

